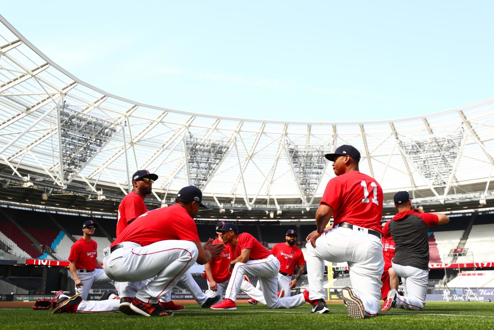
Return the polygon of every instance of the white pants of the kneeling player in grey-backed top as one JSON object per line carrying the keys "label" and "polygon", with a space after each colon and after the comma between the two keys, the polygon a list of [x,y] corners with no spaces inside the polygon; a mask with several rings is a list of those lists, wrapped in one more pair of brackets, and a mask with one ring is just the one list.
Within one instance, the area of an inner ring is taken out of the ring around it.
{"label": "white pants of the kneeling player in grey-backed top", "polygon": [[425,306],[429,271],[412,266],[402,266],[391,261],[396,275],[402,278],[405,296],[398,295],[395,308],[421,311]]}

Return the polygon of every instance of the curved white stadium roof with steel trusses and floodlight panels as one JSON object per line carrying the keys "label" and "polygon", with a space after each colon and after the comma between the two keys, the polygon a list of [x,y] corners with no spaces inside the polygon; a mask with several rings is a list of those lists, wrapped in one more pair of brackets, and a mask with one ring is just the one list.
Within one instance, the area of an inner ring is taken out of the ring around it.
{"label": "curved white stadium roof with steel trusses and floodlight panels", "polygon": [[[214,209],[309,211],[334,177],[324,154],[352,144],[362,154],[360,170],[383,188],[386,206],[398,190],[409,190],[423,204],[476,206],[484,197],[494,198],[494,98],[426,116],[369,122],[190,113],[93,87],[51,61],[2,16],[0,22],[4,189],[34,187],[97,203],[121,199],[131,174],[148,169],[159,176],[149,196],[157,205],[196,185]],[[305,110],[300,109],[301,117]]]}

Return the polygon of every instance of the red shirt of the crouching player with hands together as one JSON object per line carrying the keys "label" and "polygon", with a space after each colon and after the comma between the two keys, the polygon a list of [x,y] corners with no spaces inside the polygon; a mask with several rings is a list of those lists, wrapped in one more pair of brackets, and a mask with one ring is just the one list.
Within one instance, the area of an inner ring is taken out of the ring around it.
{"label": "red shirt of the crouching player with hands together", "polygon": [[146,246],[168,239],[201,241],[196,223],[178,204],[144,213],[132,221],[110,246],[121,242],[135,242]]}

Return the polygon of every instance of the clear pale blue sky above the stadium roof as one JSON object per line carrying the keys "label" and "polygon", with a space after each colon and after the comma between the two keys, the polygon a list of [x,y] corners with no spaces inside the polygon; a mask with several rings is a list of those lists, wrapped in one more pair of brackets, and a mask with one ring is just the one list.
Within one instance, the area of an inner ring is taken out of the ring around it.
{"label": "clear pale blue sky above the stadium roof", "polygon": [[494,96],[493,1],[3,1],[109,93],[290,121],[422,115]]}

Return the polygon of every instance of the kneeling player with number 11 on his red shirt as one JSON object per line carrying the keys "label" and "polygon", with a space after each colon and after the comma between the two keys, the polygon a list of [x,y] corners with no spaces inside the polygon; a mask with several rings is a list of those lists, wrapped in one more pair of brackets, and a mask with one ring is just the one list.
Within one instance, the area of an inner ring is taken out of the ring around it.
{"label": "kneeling player with number 11 on his red shirt", "polygon": [[[316,212],[317,230],[307,236],[307,276],[311,313],[328,313],[323,288],[324,260],[347,262],[353,290],[340,295],[351,318],[380,311],[381,275],[384,268],[379,225],[383,194],[379,184],[359,171],[360,152],[341,145],[326,154],[336,177],[329,180]],[[331,215],[333,226],[325,230]]]}

